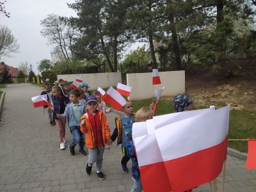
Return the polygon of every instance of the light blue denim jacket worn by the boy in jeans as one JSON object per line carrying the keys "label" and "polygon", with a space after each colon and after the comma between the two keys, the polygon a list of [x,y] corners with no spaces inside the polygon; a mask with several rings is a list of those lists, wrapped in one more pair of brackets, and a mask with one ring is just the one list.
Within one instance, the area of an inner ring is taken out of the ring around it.
{"label": "light blue denim jacket worn by the boy in jeans", "polygon": [[[84,113],[86,113],[85,106],[82,103],[80,103],[80,104],[81,104],[81,114],[84,115]],[[78,124],[78,122],[76,121],[76,118],[74,116],[74,111],[73,111],[73,108],[72,108],[72,102],[67,104],[65,112],[63,114],[61,114],[61,116],[63,118],[68,118],[69,127],[72,127],[72,126],[79,126],[80,127],[80,124]]]}

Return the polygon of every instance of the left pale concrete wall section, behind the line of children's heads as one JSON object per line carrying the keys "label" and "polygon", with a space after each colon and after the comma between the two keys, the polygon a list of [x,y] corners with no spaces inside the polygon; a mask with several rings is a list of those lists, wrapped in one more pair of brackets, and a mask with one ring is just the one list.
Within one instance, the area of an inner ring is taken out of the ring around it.
{"label": "left pale concrete wall section, behind the line of children's heads", "polygon": [[85,83],[88,83],[90,90],[95,90],[98,87],[109,88],[109,86],[116,86],[117,83],[122,83],[120,72],[58,75],[58,79],[66,81],[76,81],[76,77],[81,77]]}

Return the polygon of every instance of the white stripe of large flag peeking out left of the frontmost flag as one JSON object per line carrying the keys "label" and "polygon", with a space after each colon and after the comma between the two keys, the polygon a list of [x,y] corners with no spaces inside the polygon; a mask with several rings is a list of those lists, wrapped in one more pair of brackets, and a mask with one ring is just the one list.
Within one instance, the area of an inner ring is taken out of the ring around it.
{"label": "white stripe of large flag peeking out left of the frontmost flag", "polygon": [[155,134],[135,138],[135,145],[139,166],[163,162]]}

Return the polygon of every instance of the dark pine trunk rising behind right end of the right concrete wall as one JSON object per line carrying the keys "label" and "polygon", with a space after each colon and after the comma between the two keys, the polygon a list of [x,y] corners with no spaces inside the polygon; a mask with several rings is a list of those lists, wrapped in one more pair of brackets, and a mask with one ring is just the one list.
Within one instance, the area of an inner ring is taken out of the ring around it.
{"label": "dark pine trunk rising behind right end of the right concrete wall", "polygon": [[182,63],[181,63],[181,58],[180,58],[180,48],[179,48],[178,36],[177,36],[176,28],[175,28],[173,13],[169,14],[169,21],[170,21],[170,27],[171,27],[171,32],[172,32],[173,52],[175,54],[176,68],[177,68],[177,70],[181,70]]}

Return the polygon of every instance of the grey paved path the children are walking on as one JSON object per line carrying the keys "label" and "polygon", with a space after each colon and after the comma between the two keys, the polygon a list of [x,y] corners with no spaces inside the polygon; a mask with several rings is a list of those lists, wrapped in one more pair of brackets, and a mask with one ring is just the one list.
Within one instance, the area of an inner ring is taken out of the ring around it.
{"label": "grey paved path the children are walking on", "polygon": [[[49,125],[42,108],[32,106],[31,97],[41,90],[31,84],[10,84],[3,89],[6,96],[0,122],[0,191],[129,191],[131,173],[121,172],[122,152],[116,143],[104,153],[106,180],[97,178],[95,166],[91,176],[85,173],[87,156],[70,156],[67,149],[60,150],[56,127]],[[108,115],[112,131],[115,116]],[[66,132],[70,143],[72,137],[68,129]],[[225,191],[256,191],[256,171],[246,170],[244,164],[228,156]],[[128,167],[131,170],[131,162]],[[221,182],[220,176],[219,188]],[[210,190],[210,185],[205,184],[193,191]]]}

